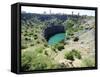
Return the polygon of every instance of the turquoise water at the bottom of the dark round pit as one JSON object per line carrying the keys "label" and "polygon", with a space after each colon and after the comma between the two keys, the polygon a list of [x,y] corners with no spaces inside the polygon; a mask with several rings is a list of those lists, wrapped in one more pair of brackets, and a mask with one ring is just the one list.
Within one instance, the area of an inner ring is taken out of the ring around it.
{"label": "turquoise water at the bottom of the dark round pit", "polygon": [[54,45],[65,39],[65,33],[55,34],[48,40],[49,45]]}

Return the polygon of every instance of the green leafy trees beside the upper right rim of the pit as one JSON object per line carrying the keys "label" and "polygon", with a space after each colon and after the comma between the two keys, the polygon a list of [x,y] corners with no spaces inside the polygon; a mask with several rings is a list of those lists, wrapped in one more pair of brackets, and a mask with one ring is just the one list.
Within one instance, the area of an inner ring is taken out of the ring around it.
{"label": "green leafy trees beside the upper right rim of the pit", "polygon": [[80,25],[80,20],[76,21],[74,19],[69,18],[63,24],[65,25],[68,39],[70,39],[70,37],[73,37],[75,32],[78,32],[84,29],[84,27]]}

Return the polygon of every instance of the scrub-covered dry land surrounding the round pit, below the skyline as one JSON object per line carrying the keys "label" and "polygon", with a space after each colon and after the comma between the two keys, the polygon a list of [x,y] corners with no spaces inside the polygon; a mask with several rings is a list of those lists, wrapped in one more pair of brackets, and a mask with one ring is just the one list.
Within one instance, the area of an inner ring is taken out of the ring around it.
{"label": "scrub-covered dry land surrounding the round pit, below the skyline", "polygon": [[[62,21],[27,15],[21,20],[22,71],[95,66],[95,17],[69,16]],[[50,23],[62,24],[66,30],[66,38],[56,45],[48,45],[43,37]]]}

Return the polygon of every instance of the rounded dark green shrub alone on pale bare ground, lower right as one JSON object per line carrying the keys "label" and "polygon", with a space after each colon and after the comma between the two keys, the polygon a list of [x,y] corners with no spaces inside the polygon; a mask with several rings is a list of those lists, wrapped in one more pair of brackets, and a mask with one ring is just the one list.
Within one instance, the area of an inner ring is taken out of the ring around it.
{"label": "rounded dark green shrub alone on pale bare ground, lower right", "polygon": [[69,51],[69,52],[65,53],[65,59],[74,61],[74,57],[78,58],[78,59],[81,59],[80,52],[73,49],[72,51]]}

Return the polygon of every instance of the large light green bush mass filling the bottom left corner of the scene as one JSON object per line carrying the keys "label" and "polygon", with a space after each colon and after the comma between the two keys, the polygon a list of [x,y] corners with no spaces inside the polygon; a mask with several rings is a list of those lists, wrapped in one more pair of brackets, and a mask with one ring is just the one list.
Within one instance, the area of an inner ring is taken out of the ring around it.
{"label": "large light green bush mass filling the bottom left corner of the scene", "polygon": [[31,51],[22,51],[21,56],[21,69],[24,71],[28,70],[43,70],[43,69],[52,69],[55,64],[53,60],[41,53],[41,49],[39,51],[35,51],[30,49]]}

